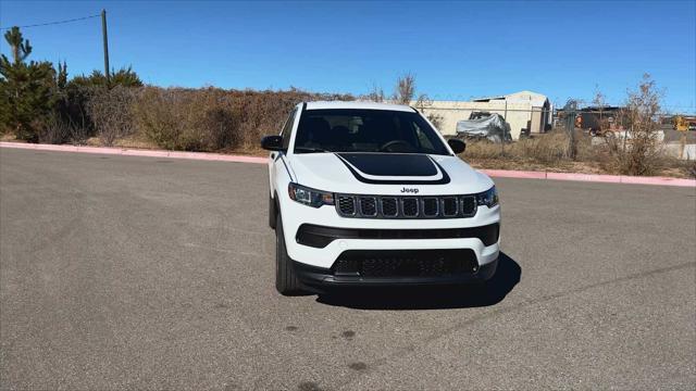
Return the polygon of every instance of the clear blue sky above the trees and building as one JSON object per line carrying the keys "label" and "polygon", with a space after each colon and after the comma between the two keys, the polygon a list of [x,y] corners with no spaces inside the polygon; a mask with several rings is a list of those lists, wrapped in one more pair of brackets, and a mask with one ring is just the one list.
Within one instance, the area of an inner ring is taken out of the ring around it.
{"label": "clear blue sky above the trees and building", "polygon": [[[435,99],[529,89],[611,103],[643,73],[696,112],[696,2],[0,2],[0,25],[107,9],[111,65],[160,86],[362,93],[410,72]],[[34,60],[103,68],[99,18],[24,29]],[[8,53],[2,40],[0,50]]]}

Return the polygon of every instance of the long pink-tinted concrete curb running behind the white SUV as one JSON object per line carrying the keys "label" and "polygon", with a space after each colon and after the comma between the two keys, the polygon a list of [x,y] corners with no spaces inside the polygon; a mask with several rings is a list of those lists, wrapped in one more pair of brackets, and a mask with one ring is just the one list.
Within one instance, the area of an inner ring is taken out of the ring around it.
{"label": "long pink-tinted concrete curb running behind the white SUV", "polygon": [[[221,153],[136,150],[136,149],[127,149],[127,148],[105,148],[105,147],[53,146],[53,144],[35,144],[35,143],[7,142],[7,141],[0,141],[0,148],[17,148],[17,149],[30,149],[30,150],[39,150],[39,151],[117,154],[117,155],[125,155],[125,156],[189,159],[189,160],[235,162],[235,163],[265,164],[268,162],[268,157],[229,155],[229,154],[221,154]],[[625,175],[525,172],[525,171],[509,171],[509,169],[480,169],[480,171],[486,175],[489,175],[492,177],[498,177],[498,178],[551,179],[551,180],[605,182],[605,184],[657,185],[657,186],[679,186],[679,187],[696,188],[696,179],[681,179],[681,178],[670,178],[670,177],[633,177],[633,176],[625,176]]]}

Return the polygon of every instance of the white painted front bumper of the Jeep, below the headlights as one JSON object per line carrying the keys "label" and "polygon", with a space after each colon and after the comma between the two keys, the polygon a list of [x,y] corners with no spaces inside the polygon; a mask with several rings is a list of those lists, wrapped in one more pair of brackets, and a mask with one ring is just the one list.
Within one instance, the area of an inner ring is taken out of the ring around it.
{"label": "white painted front bumper of the Jeep, below the headlights", "polygon": [[[480,229],[500,224],[499,205],[480,206],[474,216],[465,218],[366,219],[341,217],[333,206],[314,209],[295,202],[286,194],[277,195],[287,254],[301,266],[326,272],[343,253],[356,250],[469,249],[475,253],[478,268],[498,258],[499,238],[489,240],[489,236]],[[319,241],[302,242],[302,238],[308,238],[298,236],[303,225],[326,229],[321,232],[314,229],[313,234],[319,235],[309,236]],[[497,228],[495,232],[498,234]]]}

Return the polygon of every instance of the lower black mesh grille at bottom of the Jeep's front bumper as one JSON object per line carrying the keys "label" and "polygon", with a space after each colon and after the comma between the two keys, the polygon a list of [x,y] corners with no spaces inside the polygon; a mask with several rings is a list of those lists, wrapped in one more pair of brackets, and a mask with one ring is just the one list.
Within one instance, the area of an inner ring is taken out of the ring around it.
{"label": "lower black mesh grille at bottom of the Jeep's front bumper", "polygon": [[456,276],[476,269],[476,255],[470,249],[348,250],[332,267],[335,276],[364,278]]}

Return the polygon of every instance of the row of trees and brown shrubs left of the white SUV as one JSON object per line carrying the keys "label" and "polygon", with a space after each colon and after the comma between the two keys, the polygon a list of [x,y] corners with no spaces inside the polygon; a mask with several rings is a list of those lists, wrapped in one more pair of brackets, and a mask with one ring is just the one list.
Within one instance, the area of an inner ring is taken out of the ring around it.
{"label": "row of trees and brown shrubs left of the white SUV", "polygon": [[114,70],[109,78],[99,71],[71,78],[65,62],[30,60],[32,45],[18,27],[7,31],[4,39],[11,58],[0,59],[0,134],[28,142],[79,144],[96,137],[100,144],[112,146],[137,137],[165,149],[251,150],[258,148],[260,136],[277,131],[301,101],[359,98],[409,104],[415,99],[415,78],[410,74],[397,80],[388,98],[382,89],[378,94],[355,97],[296,88],[161,88],[144,86],[132,67]]}

